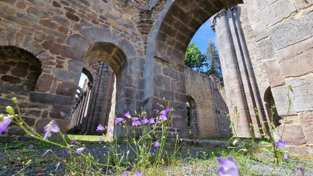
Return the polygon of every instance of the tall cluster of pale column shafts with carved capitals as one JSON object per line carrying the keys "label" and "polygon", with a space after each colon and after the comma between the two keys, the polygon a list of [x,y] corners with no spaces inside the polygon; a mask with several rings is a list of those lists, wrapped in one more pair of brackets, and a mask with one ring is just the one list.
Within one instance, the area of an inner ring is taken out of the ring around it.
{"label": "tall cluster of pale column shafts with carved capitals", "polygon": [[[261,107],[259,94],[236,10],[236,7],[223,9],[211,21],[218,42],[228,107],[237,107],[239,121],[236,118],[233,121],[235,127],[238,126],[237,134],[245,137],[252,135],[250,123],[257,129],[260,127],[259,121],[265,119],[261,109],[258,110],[260,119],[255,116],[254,107]],[[233,112],[232,108],[229,112]],[[254,131],[256,136],[263,132],[266,130]]]}

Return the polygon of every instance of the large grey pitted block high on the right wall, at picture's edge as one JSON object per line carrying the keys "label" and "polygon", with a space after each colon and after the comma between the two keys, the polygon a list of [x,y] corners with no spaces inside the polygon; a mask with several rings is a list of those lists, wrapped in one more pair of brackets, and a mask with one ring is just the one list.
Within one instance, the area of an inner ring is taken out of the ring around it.
{"label": "large grey pitted block high on the right wall, at picture's edge", "polygon": [[[313,36],[307,33],[313,25],[313,13],[309,13],[302,18],[288,18],[269,29],[269,36],[273,43],[274,50],[284,48],[291,44],[300,42]],[[285,30],[288,28],[288,30]]]}

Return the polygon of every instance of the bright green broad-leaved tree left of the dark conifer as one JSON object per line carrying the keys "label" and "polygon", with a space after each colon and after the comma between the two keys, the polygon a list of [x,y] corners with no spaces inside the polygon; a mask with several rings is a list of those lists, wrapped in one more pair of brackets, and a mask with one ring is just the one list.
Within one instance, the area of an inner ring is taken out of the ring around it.
{"label": "bright green broad-leaved tree left of the dark conifer", "polygon": [[185,55],[185,66],[205,73],[205,68],[208,66],[206,60],[206,56],[201,53],[199,47],[195,46],[194,42],[189,43]]}

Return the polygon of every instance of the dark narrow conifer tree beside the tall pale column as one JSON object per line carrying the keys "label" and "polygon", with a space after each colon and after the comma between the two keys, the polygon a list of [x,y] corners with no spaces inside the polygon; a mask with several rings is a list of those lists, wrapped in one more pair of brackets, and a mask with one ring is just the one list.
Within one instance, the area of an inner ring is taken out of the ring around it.
{"label": "dark narrow conifer tree beside the tall pale column", "polygon": [[222,68],[219,60],[218,50],[216,49],[215,44],[212,42],[212,40],[210,40],[207,51],[205,52],[205,56],[208,60],[208,70],[205,74],[213,74],[219,80],[221,80],[223,84]]}

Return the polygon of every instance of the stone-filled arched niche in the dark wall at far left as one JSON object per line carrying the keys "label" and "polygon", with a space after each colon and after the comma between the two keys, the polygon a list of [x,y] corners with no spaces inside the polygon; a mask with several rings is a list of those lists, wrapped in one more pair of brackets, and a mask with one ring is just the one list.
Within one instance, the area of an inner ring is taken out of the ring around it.
{"label": "stone-filled arched niche in the dark wall at far left", "polygon": [[[0,47],[0,98],[17,97],[28,99],[28,92],[37,91],[36,83],[41,74],[41,63],[30,52],[13,46]],[[5,107],[14,104],[2,103],[0,113],[5,113]]]}

